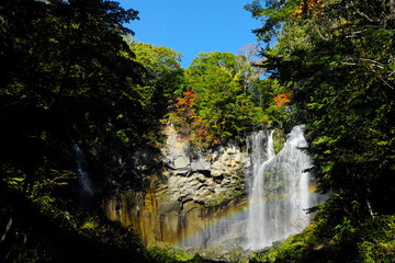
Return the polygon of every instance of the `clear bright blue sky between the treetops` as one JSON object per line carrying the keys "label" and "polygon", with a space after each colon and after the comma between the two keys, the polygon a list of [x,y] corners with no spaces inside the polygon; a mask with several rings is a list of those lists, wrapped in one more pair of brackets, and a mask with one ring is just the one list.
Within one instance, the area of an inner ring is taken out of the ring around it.
{"label": "clear bright blue sky between the treetops", "polygon": [[242,7],[251,0],[119,0],[139,11],[127,26],[139,42],[166,46],[183,55],[188,68],[199,53],[232,52],[256,43],[260,22]]}

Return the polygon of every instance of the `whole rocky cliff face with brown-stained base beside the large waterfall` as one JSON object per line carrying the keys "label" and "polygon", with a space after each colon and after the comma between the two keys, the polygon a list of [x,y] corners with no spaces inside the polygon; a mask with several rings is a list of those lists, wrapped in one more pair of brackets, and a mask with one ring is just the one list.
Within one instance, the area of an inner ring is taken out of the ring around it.
{"label": "whole rocky cliff face with brown-stained base beside the large waterfall", "polygon": [[166,129],[163,169],[145,194],[123,192],[109,199],[109,219],[133,226],[144,243],[210,248],[240,237],[245,206],[245,152],[235,145],[202,153]]}

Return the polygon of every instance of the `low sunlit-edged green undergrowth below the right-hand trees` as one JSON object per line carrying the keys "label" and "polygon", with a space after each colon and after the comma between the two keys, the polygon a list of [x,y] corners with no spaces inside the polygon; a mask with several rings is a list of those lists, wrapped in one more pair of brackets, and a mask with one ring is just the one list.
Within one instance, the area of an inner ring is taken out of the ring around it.
{"label": "low sunlit-edged green undergrowth below the right-hand trees", "polygon": [[[395,216],[364,221],[345,218],[336,228],[321,220],[283,243],[251,255],[250,262],[395,262]],[[325,235],[323,235],[323,228]]]}

